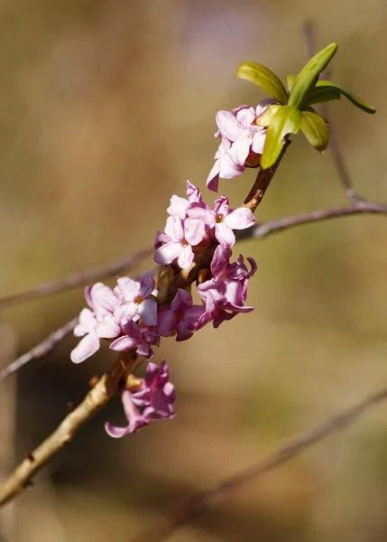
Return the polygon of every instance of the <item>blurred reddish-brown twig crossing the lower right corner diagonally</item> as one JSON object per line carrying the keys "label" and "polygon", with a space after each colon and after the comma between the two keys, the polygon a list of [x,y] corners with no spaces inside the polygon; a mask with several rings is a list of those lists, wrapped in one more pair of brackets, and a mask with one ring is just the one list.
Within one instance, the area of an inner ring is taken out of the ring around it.
{"label": "blurred reddish-brown twig crossing the lower right corner diagonally", "polygon": [[281,448],[263,461],[255,463],[248,469],[222,481],[216,488],[200,493],[187,500],[177,509],[171,510],[166,518],[162,520],[161,524],[146,530],[138,537],[134,537],[131,542],[148,542],[149,540],[152,540],[152,542],[162,542],[162,540],[166,540],[181,525],[187,523],[190,519],[196,518],[208,507],[225,500],[232,491],[238,490],[248,483],[257,481],[265,474],[280,467],[283,463],[287,463],[290,459],[299,455],[299,453],[305,452],[313,444],[317,444],[328,436],[345,429],[348,425],[353,424],[359,416],[363,415],[368,408],[378,405],[386,399],[387,388],[382,388],[355,406],[348,408],[337,416],[329,418],[326,422],[318,425],[311,431],[290,440],[290,442],[281,446]]}

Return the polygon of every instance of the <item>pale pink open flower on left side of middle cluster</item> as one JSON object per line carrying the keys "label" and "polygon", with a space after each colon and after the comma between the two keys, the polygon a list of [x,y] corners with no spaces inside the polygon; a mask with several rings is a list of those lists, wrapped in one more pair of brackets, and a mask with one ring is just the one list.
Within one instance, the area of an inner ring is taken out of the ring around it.
{"label": "pale pink open flower on left side of middle cluster", "polygon": [[167,220],[164,231],[170,241],[157,248],[154,261],[166,265],[177,258],[181,269],[189,269],[194,259],[192,247],[198,245],[205,236],[204,221],[190,218],[181,220],[179,215],[173,215]]}

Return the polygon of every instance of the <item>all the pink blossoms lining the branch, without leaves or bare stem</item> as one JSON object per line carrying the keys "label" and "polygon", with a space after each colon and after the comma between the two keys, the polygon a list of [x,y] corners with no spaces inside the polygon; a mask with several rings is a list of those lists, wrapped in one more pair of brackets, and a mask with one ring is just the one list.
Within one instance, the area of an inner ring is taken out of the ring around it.
{"label": "all the pink blossoms lining the branch, without leaves or bare stem", "polygon": [[[217,114],[222,144],[208,177],[210,190],[217,190],[219,175],[232,178],[245,166],[259,163],[265,130],[254,121],[269,103]],[[71,352],[74,363],[94,354],[101,339],[110,342],[111,350],[135,350],[151,360],[152,347],[159,346],[161,337],[186,341],[207,323],[217,328],[236,314],[253,310],[246,305],[247,285],[257,266],[252,258],[247,258],[246,265],[242,255],[231,261],[235,231],[253,225],[253,212],[246,207],[232,209],[226,196],[210,207],[190,182],[187,198],[173,195],[167,212],[165,229],[157,233],[154,244],[158,271],[144,273],[139,280],[119,277],[114,288],[97,283],[86,289],[88,308],[80,313],[74,330],[82,337]],[[193,301],[194,285],[198,304]],[[127,425],[106,424],[106,432],[113,437],[174,416],[175,391],[166,362],[160,366],[149,362],[145,378],[127,378],[121,399]]]}

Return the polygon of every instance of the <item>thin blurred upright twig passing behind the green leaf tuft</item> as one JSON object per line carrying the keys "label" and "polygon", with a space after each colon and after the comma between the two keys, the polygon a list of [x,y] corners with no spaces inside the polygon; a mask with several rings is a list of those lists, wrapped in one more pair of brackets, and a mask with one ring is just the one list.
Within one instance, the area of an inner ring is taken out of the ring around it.
{"label": "thin blurred upright twig passing behind the green leaf tuft", "polygon": [[[304,34],[307,42],[308,55],[309,58],[311,58],[314,54],[316,54],[317,51],[316,24],[313,23],[313,21],[307,21],[307,23],[304,24]],[[331,71],[329,70],[328,72],[326,70],[323,74],[321,74],[321,77],[322,79],[329,79],[331,77]],[[327,102],[320,104],[319,107],[322,117],[328,118],[329,107],[327,106]],[[332,123],[329,123],[329,149],[333,156],[338,178],[340,179],[340,182],[342,183],[346,192],[346,197],[353,203],[364,201],[364,198],[355,190],[354,182],[352,181],[352,177],[346,164],[346,159],[338,141],[336,128],[334,125],[332,125]]]}

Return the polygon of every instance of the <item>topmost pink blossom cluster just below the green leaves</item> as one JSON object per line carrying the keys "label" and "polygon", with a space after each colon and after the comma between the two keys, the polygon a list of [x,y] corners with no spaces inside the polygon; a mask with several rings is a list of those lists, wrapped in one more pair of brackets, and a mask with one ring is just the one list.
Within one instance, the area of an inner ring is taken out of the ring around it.
{"label": "topmost pink blossom cluster just below the green leaves", "polygon": [[240,106],[232,111],[217,112],[216,137],[222,137],[216,162],[207,177],[207,189],[217,192],[219,177],[234,179],[244,172],[244,168],[257,167],[260,163],[266,128],[257,126],[255,120],[263,111],[275,103],[272,98],[263,100],[255,109]]}

